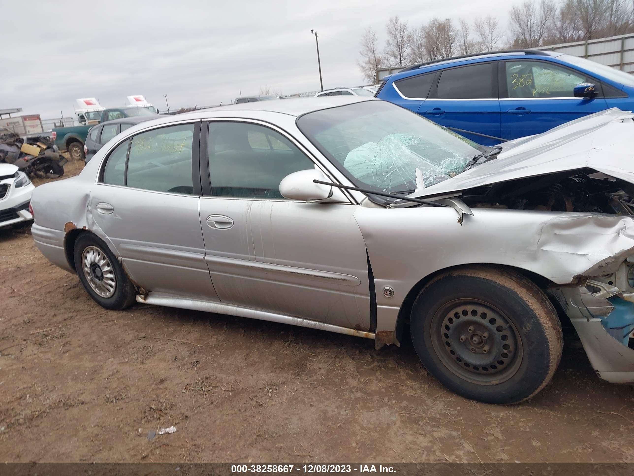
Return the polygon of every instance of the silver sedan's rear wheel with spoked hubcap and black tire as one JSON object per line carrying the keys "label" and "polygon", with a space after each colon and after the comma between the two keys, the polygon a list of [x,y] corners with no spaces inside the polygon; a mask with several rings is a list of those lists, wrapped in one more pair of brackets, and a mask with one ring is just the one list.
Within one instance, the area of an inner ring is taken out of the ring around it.
{"label": "silver sedan's rear wheel with spoked hubcap and black tire", "polygon": [[107,309],[121,310],[136,301],[136,290],[108,246],[92,233],[75,241],[75,270],[93,300]]}

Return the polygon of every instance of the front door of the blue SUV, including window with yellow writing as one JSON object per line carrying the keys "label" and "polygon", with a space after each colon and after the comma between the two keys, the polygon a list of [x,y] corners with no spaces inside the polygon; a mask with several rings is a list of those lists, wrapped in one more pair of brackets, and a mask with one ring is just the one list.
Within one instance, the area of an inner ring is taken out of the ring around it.
{"label": "front door of the blue SUV, including window with yellow writing", "polygon": [[[594,98],[576,98],[574,86],[595,83]],[[505,139],[540,134],[607,108],[600,81],[543,60],[500,62],[501,134]]]}

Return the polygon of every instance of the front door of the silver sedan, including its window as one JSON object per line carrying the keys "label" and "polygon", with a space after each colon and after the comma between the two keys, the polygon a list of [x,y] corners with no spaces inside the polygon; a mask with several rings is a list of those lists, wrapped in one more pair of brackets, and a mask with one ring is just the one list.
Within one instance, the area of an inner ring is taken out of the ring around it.
{"label": "front door of the silver sedan, including its window", "polygon": [[368,265],[356,205],[283,198],[281,179],[315,164],[280,131],[239,121],[203,128],[210,185],[200,221],[220,300],[367,330]]}

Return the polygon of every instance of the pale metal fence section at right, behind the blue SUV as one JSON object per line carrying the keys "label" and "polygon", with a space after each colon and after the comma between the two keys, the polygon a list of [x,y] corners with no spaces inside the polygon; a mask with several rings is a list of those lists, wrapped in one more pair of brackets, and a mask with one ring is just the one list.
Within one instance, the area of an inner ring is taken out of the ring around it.
{"label": "pale metal fence section at right, behind the blue SUV", "polygon": [[559,51],[567,55],[581,56],[602,65],[634,73],[634,33],[574,43],[551,44],[540,46],[536,50]]}

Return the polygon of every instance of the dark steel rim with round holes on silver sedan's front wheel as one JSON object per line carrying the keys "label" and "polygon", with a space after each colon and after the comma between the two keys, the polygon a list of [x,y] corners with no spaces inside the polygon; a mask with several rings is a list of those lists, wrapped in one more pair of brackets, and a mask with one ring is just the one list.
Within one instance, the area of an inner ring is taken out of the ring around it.
{"label": "dark steel rim with round holes on silver sedan's front wheel", "polygon": [[453,373],[480,385],[497,385],[517,372],[522,340],[507,316],[476,300],[451,301],[432,319],[432,345]]}

